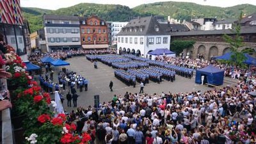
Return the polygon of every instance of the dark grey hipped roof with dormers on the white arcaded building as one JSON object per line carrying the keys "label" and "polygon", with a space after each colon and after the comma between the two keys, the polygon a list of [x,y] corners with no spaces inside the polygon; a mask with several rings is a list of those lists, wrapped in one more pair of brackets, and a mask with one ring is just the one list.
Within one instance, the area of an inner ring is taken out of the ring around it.
{"label": "dark grey hipped roof with dormers on the white arcaded building", "polygon": [[[159,28],[159,31],[156,31],[156,27]],[[143,30],[140,31],[140,28]],[[164,24],[159,24],[154,16],[138,17],[130,20],[118,35],[170,35],[170,29],[168,31]]]}

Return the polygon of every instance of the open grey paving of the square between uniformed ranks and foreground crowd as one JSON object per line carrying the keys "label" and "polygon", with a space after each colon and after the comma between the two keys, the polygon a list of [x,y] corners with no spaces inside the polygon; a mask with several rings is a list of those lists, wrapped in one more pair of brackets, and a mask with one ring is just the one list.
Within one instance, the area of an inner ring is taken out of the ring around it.
{"label": "open grey paving of the square between uniformed ranks and foreground crowd", "polygon": [[[86,60],[85,57],[73,57],[72,59],[67,60],[70,63],[70,66],[66,68],[68,71],[77,72],[78,75],[82,75],[89,80],[88,91],[79,92],[80,97],[77,100],[77,106],[87,107],[93,105],[93,96],[100,95],[100,102],[109,101],[113,98],[113,95],[124,95],[125,92],[138,93],[140,92],[139,83],[136,83],[136,88],[133,86],[127,86],[122,83],[122,81],[116,79],[114,75],[114,69],[108,65],[104,65],[101,62],[98,62],[98,69],[93,68],[93,63]],[[56,68],[55,71],[61,70],[61,67]],[[56,80],[55,80],[56,81]],[[109,90],[109,81],[113,81],[113,92]],[[229,83],[224,83],[226,86]],[[200,84],[195,84],[195,77],[192,79],[187,79],[185,77],[176,76],[176,81],[174,83],[164,80],[162,83],[157,84],[153,81],[150,81],[149,84],[146,84],[144,88],[145,93],[168,93],[168,92],[192,92],[192,91],[205,91],[211,90],[207,86],[202,86]],[[84,90],[84,89],[83,89]],[[64,96],[67,91],[64,92]],[[54,97],[54,96],[53,96]],[[67,100],[64,100],[63,103],[64,109],[67,109],[70,112],[74,108],[67,108]]]}

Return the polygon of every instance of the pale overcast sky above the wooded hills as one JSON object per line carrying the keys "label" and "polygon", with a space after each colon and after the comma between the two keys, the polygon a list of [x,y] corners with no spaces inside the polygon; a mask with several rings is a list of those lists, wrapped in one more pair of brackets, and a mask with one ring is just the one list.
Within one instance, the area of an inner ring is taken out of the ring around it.
{"label": "pale overcast sky above the wooded hills", "polygon": [[65,8],[79,3],[122,4],[133,8],[140,4],[155,3],[159,1],[185,1],[221,7],[246,3],[256,5],[256,0],[20,0],[20,3],[23,7],[57,10],[58,8]]}

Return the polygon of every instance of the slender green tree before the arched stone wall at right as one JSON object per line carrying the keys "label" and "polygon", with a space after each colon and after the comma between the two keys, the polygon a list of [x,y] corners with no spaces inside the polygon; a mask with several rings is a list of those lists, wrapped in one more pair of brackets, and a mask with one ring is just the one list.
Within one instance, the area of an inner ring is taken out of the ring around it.
{"label": "slender green tree before the arched stone wall at right", "polygon": [[239,20],[237,22],[237,25],[234,29],[231,29],[232,33],[234,33],[234,36],[228,36],[224,35],[224,40],[230,44],[230,51],[231,56],[230,60],[227,60],[227,63],[230,65],[238,66],[238,67],[246,67],[246,65],[243,63],[244,60],[246,60],[246,57],[244,56],[244,52],[239,51],[239,47],[243,47],[243,36],[241,36],[241,19],[242,19],[243,13],[241,12],[241,15],[239,17]]}

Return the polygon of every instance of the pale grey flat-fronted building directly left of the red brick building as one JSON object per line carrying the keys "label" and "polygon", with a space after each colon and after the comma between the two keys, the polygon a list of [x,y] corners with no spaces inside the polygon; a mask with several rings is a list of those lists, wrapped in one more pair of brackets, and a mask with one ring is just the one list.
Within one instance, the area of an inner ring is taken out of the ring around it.
{"label": "pale grey flat-fronted building directly left of the red brick building", "polygon": [[47,51],[81,49],[79,17],[44,15]]}

